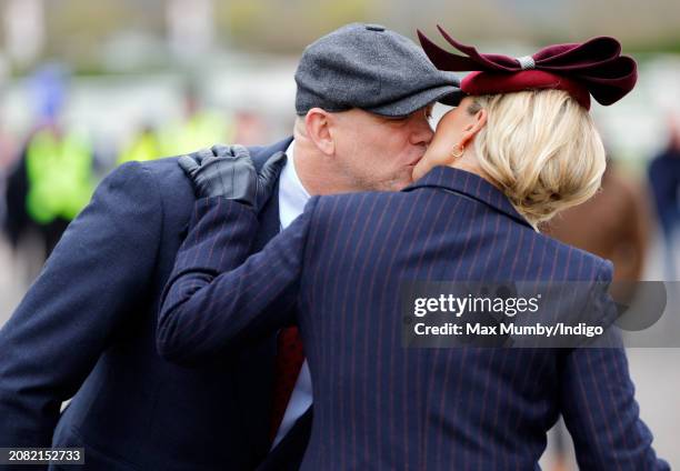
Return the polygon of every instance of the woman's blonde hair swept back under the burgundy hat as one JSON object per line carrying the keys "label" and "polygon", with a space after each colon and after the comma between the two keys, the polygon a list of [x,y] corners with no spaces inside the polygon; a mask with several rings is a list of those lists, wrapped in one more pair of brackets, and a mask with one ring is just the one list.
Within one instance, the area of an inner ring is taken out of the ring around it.
{"label": "woman's blonde hair swept back under the burgundy hat", "polygon": [[474,146],[481,169],[536,228],[600,188],[604,147],[593,120],[562,90],[471,97],[487,110]]}

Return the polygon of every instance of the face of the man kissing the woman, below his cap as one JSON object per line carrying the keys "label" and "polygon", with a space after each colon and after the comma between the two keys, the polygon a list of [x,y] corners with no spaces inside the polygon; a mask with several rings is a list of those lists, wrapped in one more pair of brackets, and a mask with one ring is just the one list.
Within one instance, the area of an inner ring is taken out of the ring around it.
{"label": "face of the man kissing the woman, below his cap", "polygon": [[348,191],[398,191],[413,181],[413,167],[432,140],[432,106],[404,118],[359,109],[334,113],[333,140]]}

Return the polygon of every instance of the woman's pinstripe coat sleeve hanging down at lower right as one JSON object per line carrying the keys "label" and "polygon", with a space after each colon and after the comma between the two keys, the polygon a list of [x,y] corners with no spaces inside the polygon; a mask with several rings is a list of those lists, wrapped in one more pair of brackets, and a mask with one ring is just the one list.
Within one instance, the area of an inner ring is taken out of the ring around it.
{"label": "woman's pinstripe coat sleeve hanging down at lower right", "polygon": [[[611,281],[611,263],[598,282]],[[604,305],[607,304],[607,305]],[[608,299],[601,309],[614,309]],[[564,355],[560,409],[582,470],[668,470],[652,449],[652,434],[640,420],[634,385],[620,334],[612,329],[601,348],[577,348]]]}

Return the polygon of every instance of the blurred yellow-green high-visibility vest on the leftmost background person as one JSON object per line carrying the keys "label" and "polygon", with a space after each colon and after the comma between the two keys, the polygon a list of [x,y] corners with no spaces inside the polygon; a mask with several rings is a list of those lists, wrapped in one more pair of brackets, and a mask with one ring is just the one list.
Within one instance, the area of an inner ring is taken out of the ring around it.
{"label": "blurred yellow-green high-visibility vest on the leftmost background person", "polygon": [[26,209],[33,221],[72,220],[92,196],[92,150],[84,139],[68,133],[61,139],[38,131],[26,153],[28,196]]}

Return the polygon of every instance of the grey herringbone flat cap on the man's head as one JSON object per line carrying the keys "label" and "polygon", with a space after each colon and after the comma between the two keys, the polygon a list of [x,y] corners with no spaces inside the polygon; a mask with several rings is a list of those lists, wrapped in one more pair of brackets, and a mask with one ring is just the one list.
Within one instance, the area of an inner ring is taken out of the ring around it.
{"label": "grey herringbone flat cap on the man's head", "polygon": [[304,49],[296,72],[296,111],[360,108],[402,117],[429,103],[457,104],[452,72],[438,70],[410,39],[378,24],[352,23]]}

